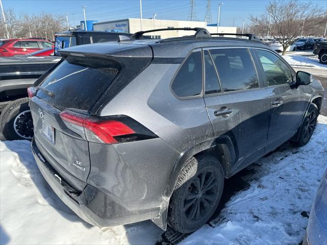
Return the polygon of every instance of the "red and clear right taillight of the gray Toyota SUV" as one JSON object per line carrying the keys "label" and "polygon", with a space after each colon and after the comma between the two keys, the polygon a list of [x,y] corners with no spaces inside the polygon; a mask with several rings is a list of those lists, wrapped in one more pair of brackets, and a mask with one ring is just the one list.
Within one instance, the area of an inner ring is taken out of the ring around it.
{"label": "red and clear right taillight of the gray Toyota SUV", "polygon": [[59,115],[68,129],[92,142],[115,144],[157,137],[143,125],[125,115],[96,117],[70,110],[63,111]]}

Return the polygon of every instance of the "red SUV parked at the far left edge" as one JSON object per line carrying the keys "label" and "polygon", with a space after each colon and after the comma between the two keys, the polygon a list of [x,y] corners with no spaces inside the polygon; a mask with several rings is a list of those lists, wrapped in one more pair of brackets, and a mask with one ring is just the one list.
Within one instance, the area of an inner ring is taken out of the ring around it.
{"label": "red SUV parked at the far left edge", "polygon": [[20,38],[0,41],[0,56],[26,55],[43,48],[54,48],[50,41],[37,38]]}

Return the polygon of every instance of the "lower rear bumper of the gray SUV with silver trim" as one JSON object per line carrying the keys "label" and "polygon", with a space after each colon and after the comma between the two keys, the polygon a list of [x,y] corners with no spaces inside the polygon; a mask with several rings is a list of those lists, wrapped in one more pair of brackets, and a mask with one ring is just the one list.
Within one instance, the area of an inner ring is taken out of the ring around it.
{"label": "lower rear bumper of the gray SUV with silver trim", "polygon": [[80,218],[91,225],[99,227],[118,226],[147,220],[159,215],[159,208],[129,211],[89,184],[82,192],[78,192],[67,184],[46,161],[34,138],[32,139],[32,152],[41,174],[58,197]]}

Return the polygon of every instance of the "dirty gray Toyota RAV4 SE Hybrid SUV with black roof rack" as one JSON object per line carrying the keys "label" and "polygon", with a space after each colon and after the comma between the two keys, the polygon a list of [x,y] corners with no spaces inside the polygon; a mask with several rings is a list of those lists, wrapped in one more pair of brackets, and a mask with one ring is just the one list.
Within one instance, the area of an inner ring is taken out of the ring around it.
{"label": "dirty gray Toyota RAV4 SE Hybrid SUV with black roof rack", "polygon": [[310,140],[319,81],[253,35],[183,30],[196,33],[65,48],[29,88],[38,167],[92,225],[151,219],[195,231],[225,178],[289,139]]}

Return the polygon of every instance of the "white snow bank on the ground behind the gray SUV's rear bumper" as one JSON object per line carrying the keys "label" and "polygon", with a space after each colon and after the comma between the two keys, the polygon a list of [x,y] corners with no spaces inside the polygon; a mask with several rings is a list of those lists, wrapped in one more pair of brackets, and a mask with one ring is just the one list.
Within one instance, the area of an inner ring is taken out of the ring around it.
{"label": "white snow bank on the ground behind the gray SUV's rear bumper", "polygon": [[162,231],[150,221],[102,231],[80,219],[45,182],[30,145],[0,141],[0,244],[155,243]]}

